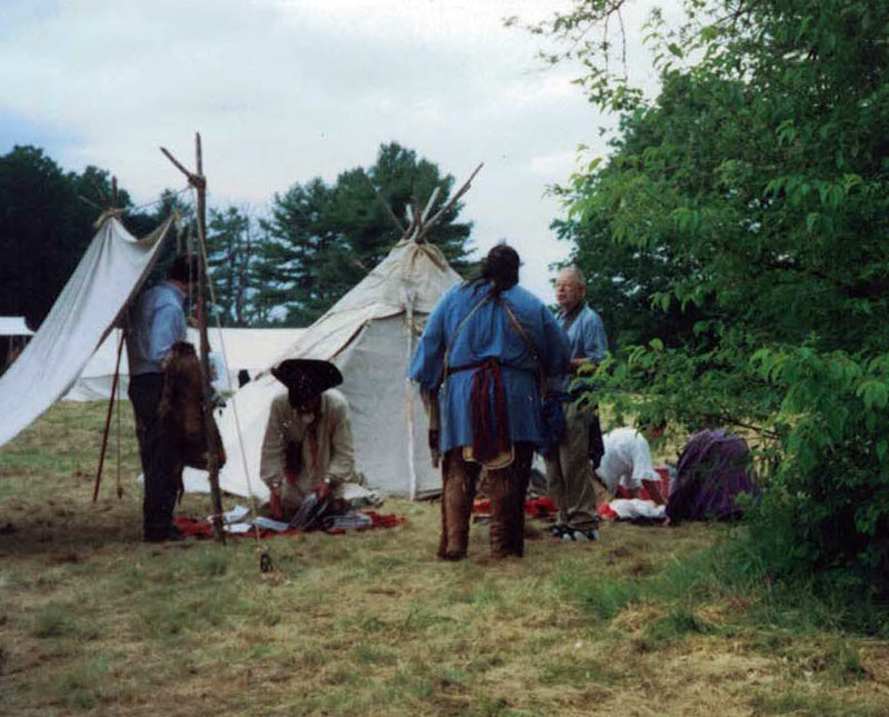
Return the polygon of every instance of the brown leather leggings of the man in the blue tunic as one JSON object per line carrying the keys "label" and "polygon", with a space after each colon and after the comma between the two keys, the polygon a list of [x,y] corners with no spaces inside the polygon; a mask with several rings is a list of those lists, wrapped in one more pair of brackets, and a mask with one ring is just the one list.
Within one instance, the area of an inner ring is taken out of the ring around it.
{"label": "brown leather leggings of the man in the blue tunic", "polygon": [[[525,554],[525,491],[531,476],[531,444],[516,445],[516,459],[502,470],[488,471],[491,500],[491,557]],[[446,560],[466,557],[469,520],[481,466],[463,460],[462,449],[444,454],[441,467],[441,541],[438,556]]]}

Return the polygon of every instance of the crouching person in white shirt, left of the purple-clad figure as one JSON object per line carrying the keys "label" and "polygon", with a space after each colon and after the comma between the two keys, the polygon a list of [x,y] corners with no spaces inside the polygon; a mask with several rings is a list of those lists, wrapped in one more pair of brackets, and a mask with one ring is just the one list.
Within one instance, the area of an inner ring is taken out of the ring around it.
{"label": "crouching person in white shirt, left of the purple-clad figure", "polygon": [[[648,432],[651,440],[663,435],[663,426]],[[616,428],[602,436],[605,456],[596,469],[596,477],[605,484],[610,495],[623,486],[633,498],[645,488],[659,506],[667,502],[660,490],[660,476],[651,467],[651,449],[648,440],[635,428]]]}

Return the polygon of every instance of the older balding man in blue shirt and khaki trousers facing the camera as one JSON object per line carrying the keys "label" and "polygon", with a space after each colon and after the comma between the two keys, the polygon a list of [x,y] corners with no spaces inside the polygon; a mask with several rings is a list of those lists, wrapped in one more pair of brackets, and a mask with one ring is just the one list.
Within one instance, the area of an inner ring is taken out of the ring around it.
{"label": "older balding man in blue shirt and khaki trousers facing the camera", "polygon": [[[587,282],[577,267],[566,267],[556,279],[559,325],[571,343],[571,374],[585,365],[598,365],[605,358],[608,339],[599,315],[583,300]],[[566,381],[570,385],[571,378]],[[566,540],[598,538],[596,489],[589,461],[590,429],[595,426],[593,407],[575,405],[570,386],[565,387],[565,440],[547,456],[547,485],[559,512],[553,532]]]}

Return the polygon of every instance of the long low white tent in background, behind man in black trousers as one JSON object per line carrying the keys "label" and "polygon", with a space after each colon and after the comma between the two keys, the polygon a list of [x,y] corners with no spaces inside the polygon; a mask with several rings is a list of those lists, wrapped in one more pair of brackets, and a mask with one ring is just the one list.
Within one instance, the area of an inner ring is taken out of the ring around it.
{"label": "long low white tent in background, behind man in black trousers", "polygon": [[[292,346],[304,329],[208,329],[210,358],[217,367],[217,390],[233,390],[238,387],[238,371],[246,369],[253,377],[271,366],[274,358]],[[189,329],[189,341],[200,345],[197,329]],[[96,349],[77,381],[64,396],[68,401],[108,400],[114,380],[114,366],[120,343],[120,329],[112,330]],[[224,346],[224,355],[223,355]],[[223,361],[227,359],[227,361]],[[228,365],[228,376],[224,366]],[[129,386],[129,361],[127,347],[120,361],[120,395],[127,396]]]}

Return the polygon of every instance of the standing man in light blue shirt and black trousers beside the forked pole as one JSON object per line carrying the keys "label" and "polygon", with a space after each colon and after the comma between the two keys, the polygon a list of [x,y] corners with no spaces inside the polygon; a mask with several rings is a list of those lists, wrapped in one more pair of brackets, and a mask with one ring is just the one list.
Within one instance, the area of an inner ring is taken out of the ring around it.
{"label": "standing man in light blue shirt and black trousers beside the forked pole", "polygon": [[136,414],[136,435],[144,475],[143,537],[149,542],[178,537],[172,516],[182,464],[172,448],[173,441],[163,435],[158,408],[163,391],[163,361],[173,343],[187,338],[183,307],[189,285],[197,281],[197,257],[180,255],[167,280],[144,291],[130,312],[128,394]]}

